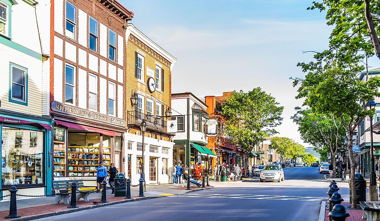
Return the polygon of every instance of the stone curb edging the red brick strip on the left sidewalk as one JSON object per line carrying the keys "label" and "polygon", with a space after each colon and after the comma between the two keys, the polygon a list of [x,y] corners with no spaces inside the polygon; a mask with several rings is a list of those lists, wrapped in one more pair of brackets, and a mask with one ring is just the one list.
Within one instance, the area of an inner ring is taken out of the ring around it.
{"label": "stone curb edging the red brick strip on the left sidewalk", "polygon": [[43,214],[38,214],[38,215],[33,215],[33,216],[25,216],[21,218],[16,218],[16,219],[9,219],[12,221],[28,221],[28,220],[33,220],[33,219],[40,219],[40,218],[45,218],[45,217],[50,217],[50,216],[57,216],[57,215],[62,215],[62,214],[67,214],[67,213],[74,213],[82,210],[89,210],[93,208],[98,208],[98,207],[105,207],[109,205],[116,205],[116,204],[121,204],[125,202],[134,202],[134,201],[141,201],[145,199],[154,199],[158,197],[163,197],[163,196],[144,196],[144,197],[139,197],[139,198],[132,198],[132,199],[125,199],[121,201],[115,201],[115,202],[106,202],[104,204],[97,204],[97,205],[91,205],[87,207],[79,207],[79,208],[73,208],[69,210],[61,210],[57,212],[50,212],[50,213],[43,213]]}

